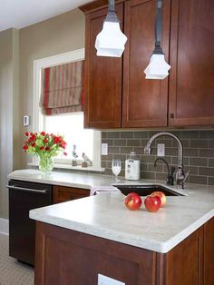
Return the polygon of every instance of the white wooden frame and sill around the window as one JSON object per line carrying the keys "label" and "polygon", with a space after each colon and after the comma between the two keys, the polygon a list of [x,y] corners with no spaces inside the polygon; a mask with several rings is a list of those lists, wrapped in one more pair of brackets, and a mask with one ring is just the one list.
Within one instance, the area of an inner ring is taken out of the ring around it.
{"label": "white wooden frame and sill around the window", "polygon": [[[51,67],[59,64],[67,64],[71,62],[84,60],[84,48],[77,49],[71,52],[63,54],[55,54],[53,56],[41,58],[34,60],[34,99],[33,99],[33,116],[32,116],[32,126],[34,132],[40,132],[40,127],[44,125],[44,116],[40,113],[39,101],[41,92],[41,70],[46,67]],[[78,169],[81,170],[82,167],[72,166],[72,162],[64,163],[60,162],[59,159],[54,163],[54,167],[57,168],[68,168],[68,169]],[[58,164],[59,163],[59,164]],[[33,157],[33,163],[37,164],[37,158]],[[101,167],[101,131],[93,130],[93,158],[92,167],[83,168],[83,170],[88,171],[104,171]]]}

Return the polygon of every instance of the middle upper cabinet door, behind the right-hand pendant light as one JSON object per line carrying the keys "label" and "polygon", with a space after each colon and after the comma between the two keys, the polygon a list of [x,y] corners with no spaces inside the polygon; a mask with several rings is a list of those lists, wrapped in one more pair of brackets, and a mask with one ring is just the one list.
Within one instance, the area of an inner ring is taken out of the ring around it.
{"label": "middle upper cabinet door, behind the right-hand pendant light", "polygon": [[[154,49],[156,0],[131,0],[125,3],[124,33],[128,42],[124,52],[122,126],[167,125],[168,78],[145,79],[144,69]],[[168,60],[170,3],[163,5],[162,49]]]}

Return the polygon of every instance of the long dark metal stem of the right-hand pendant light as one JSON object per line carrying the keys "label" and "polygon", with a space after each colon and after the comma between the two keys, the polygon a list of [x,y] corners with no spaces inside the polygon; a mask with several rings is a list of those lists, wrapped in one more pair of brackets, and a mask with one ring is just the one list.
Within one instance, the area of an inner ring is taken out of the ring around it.
{"label": "long dark metal stem of the right-hand pendant light", "polygon": [[160,43],[161,43],[161,32],[162,32],[162,0],[157,0],[157,13],[155,19],[155,49],[154,54],[163,54]]}

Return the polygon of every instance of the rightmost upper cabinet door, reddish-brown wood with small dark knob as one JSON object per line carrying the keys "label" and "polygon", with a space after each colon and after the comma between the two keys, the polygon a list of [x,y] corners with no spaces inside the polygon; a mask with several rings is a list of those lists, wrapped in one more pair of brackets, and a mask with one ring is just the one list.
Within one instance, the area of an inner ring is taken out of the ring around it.
{"label": "rightmost upper cabinet door, reddish-brown wood with small dark knob", "polygon": [[214,124],[213,0],[172,0],[170,125]]}

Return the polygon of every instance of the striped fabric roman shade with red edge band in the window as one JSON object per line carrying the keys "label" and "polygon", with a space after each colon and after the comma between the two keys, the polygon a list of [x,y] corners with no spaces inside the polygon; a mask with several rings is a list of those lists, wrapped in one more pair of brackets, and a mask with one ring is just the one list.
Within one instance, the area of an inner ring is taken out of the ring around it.
{"label": "striped fabric roman shade with red edge band in the window", "polygon": [[40,107],[46,115],[83,111],[83,61],[42,70]]}

